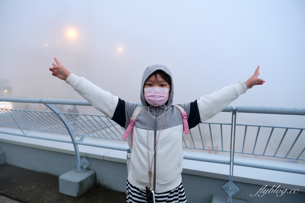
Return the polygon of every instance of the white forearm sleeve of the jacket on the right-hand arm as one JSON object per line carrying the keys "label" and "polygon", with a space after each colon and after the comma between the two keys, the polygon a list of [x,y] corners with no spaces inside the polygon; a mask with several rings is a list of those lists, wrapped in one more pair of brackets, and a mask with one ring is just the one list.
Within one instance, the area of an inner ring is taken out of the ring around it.
{"label": "white forearm sleeve of the jacket on the right-hand arm", "polygon": [[245,93],[246,90],[246,85],[242,81],[239,81],[235,85],[229,85],[212,94],[201,97],[197,100],[200,121],[203,122],[221,112],[231,102],[237,99],[239,95]]}

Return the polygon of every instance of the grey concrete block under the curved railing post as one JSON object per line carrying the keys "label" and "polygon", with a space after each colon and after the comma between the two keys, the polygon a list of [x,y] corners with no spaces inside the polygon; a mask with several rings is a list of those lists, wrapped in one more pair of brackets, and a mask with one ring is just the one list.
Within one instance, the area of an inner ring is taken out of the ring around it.
{"label": "grey concrete block under the curved railing post", "polygon": [[76,168],[59,176],[59,192],[73,197],[79,197],[94,186],[95,172],[81,169],[77,173]]}

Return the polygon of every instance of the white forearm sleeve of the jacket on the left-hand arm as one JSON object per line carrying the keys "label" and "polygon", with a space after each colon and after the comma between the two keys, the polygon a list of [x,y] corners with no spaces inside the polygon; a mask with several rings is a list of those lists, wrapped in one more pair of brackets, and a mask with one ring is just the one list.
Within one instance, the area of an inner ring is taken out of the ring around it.
{"label": "white forearm sleeve of the jacket on the left-hand arm", "polygon": [[119,98],[113,96],[110,92],[102,90],[100,87],[92,84],[89,80],[78,77],[71,73],[66,79],[66,83],[70,84],[83,98],[100,112],[112,119]]}

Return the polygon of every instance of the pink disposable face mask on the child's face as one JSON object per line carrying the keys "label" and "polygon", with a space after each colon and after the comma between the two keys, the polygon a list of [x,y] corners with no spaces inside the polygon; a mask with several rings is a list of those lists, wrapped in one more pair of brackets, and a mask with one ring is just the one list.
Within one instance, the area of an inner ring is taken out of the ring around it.
{"label": "pink disposable face mask on the child's face", "polygon": [[144,88],[145,100],[153,106],[161,106],[167,101],[167,92],[169,89],[163,87]]}

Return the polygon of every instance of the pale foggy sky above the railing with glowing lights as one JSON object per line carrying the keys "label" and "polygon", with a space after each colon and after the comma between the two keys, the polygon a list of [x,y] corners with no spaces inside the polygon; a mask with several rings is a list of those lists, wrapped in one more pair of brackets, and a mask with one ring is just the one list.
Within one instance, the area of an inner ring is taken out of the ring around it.
{"label": "pale foggy sky above the railing with glowing lights", "polygon": [[266,83],[232,105],[305,107],[304,1],[2,0],[0,39],[0,79],[13,97],[82,99],[51,75],[56,56],[126,101],[140,100],[152,64],[171,69],[176,103],[247,80],[260,65]]}

